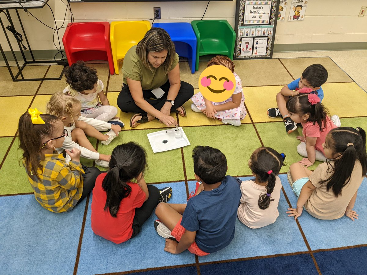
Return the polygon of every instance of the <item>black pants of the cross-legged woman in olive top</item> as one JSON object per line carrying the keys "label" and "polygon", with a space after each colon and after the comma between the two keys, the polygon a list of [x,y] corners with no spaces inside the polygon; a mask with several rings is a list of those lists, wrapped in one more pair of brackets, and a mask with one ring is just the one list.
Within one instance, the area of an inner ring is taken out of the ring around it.
{"label": "black pants of the cross-legged woman in olive top", "polygon": [[[164,103],[166,103],[168,90],[170,87],[170,81],[167,81],[160,87],[164,91],[164,95],[159,99],[153,95],[152,90],[143,90],[143,97],[150,105],[160,111]],[[175,104],[171,107],[171,111],[174,111],[179,106],[183,105],[183,103],[188,101],[193,95],[194,88],[192,85],[181,81],[181,87],[178,91],[176,99],[174,100]],[[132,99],[129,86],[127,84],[122,87],[122,90],[117,97],[117,106],[119,106],[121,111],[125,113],[146,113],[146,111],[138,107],[138,105],[134,102],[134,99]]]}

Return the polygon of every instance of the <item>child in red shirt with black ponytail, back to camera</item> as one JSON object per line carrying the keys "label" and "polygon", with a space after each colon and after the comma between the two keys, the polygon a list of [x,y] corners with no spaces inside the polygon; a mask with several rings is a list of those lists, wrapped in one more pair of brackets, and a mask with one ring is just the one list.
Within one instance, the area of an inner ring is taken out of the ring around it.
{"label": "child in red shirt with black ponytail, back to camera", "polygon": [[172,188],[159,190],[146,185],[146,152],[137,143],[129,142],[113,149],[109,167],[95,182],[91,225],[95,234],[122,243],[138,235],[157,204],[171,198]]}

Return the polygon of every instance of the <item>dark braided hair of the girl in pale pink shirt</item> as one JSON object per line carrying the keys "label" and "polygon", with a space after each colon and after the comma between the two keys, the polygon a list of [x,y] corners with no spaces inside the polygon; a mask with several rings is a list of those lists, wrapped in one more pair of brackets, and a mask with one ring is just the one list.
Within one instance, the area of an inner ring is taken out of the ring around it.
{"label": "dark braided hair of the girl in pale pink shirt", "polygon": [[258,177],[259,182],[267,182],[266,193],[259,196],[258,205],[260,209],[269,208],[270,202],[274,201],[271,194],[275,187],[276,175],[279,174],[281,166],[284,165],[285,158],[284,153],[279,154],[270,147],[260,147],[251,155],[250,169],[252,173]]}

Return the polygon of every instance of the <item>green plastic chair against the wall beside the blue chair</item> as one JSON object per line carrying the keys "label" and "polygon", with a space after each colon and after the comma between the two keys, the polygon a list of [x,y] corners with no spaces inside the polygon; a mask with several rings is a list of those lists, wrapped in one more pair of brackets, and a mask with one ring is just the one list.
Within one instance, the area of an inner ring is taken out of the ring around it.
{"label": "green plastic chair against the wall beside the blue chair", "polygon": [[194,20],[191,25],[197,38],[196,71],[202,55],[225,55],[233,60],[236,33],[227,20]]}

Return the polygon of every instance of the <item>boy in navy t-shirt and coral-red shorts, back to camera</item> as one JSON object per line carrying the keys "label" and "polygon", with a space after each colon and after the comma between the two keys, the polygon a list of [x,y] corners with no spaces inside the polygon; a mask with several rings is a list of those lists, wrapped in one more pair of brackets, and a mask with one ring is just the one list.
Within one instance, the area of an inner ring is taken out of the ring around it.
{"label": "boy in navy t-shirt and coral-red shorts, back to camera", "polygon": [[195,196],[186,204],[159,203],[154,222],[157,233],[166,238],[164,250],[179,254],[188,249],[197,256],[216,252],[235,235],[237,208],[241,198],[238,181],[226,176],[225,155],[209,146],[193,150]]}

